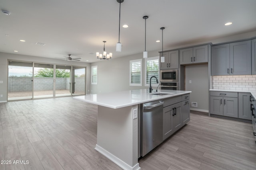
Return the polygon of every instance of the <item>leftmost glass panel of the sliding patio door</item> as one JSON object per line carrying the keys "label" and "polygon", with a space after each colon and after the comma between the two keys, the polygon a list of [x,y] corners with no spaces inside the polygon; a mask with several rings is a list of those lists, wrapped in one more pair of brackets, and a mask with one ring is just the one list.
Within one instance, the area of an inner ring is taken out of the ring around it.
{"label": "leftmost glass panel of the sliding patio door", "polygon": [[8,61],[8,99],[32,99],[33,63]]}

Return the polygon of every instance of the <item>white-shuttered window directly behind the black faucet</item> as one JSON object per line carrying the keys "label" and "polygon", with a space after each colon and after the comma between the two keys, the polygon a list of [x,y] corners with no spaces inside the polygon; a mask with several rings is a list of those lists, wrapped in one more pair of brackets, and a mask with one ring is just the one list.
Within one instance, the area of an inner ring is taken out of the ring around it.
{"label": "white-shuttered window directly behind the black faucet", "polygon": [[[159,57],[145,59],[145,86],[149,86],[152,76],[159,80]],[[155,78],[152,78],[151,86],[158,86]]]}

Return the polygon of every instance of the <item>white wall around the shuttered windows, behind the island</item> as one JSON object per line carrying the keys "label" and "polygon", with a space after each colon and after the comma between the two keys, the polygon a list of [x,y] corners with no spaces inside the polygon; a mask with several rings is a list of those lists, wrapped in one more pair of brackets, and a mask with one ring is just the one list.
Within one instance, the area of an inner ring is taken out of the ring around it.
{"label": "white wall around the shuttered windows, behind the island", "polygon": [[[148,58],[157,56],[159,56],[158,51],[148,52]],[[149,86],[144,86],[145,60],[142,58],[143,53],[140,53],[116,59],[113,56],[111,60],[92,63],[91,66],[98,66],[98,84],[91,85],[91,94],[149,88]],[[136,59],[142,59],[142,86],[130,86],[129,84],[130,60]],[[153,87],[153,89],[156,89],[156,87]]]}

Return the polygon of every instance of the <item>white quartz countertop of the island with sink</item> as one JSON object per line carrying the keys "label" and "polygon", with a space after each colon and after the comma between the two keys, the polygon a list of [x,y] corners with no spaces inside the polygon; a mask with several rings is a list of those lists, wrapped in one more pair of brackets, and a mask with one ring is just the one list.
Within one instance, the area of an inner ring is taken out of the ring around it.
{"label": "white quartz countertop of the island with sink", "polygon": [[[152,95],[157,93],[164,93],[165,95]],[[113,109],[118,109],[121,107],[132,106],[188,93],[191,93],[191,91],[159,90],[158,92],[149,93],[148,89],[138,89],[112,93],[89,94],[86,96],[76,96],[74,97],[74,99],[91,104],[110,107]]]}

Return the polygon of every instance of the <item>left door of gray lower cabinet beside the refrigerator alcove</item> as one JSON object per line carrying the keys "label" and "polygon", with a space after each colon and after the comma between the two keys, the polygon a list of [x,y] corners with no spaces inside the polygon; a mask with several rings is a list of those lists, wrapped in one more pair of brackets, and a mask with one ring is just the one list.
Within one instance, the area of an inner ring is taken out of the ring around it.
{"label": "left door of gray lower cabinet beside the refrigerator alcove", "polygon": [[223,116],[223,97],[210,96],[210,114]]}

